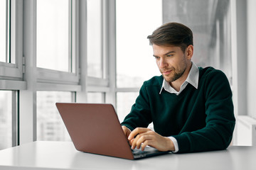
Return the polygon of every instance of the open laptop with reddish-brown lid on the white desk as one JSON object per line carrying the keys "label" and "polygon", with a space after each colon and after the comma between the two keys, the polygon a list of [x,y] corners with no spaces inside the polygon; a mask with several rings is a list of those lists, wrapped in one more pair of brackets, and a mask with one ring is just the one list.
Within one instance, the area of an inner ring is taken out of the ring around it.
{"label": "open laptop with reddish-brown lid on the white desk", "polygon": [[169,152],[154,147],[132,150],[111,104],[56,103],[75,149],[124,159],[141,159]]}

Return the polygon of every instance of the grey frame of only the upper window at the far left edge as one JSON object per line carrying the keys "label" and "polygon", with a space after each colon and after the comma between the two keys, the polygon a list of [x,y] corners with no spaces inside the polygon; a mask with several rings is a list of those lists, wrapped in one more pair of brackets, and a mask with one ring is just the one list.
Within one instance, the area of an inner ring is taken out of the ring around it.
{"label": "grey frame of only the upper window at the far left edge", "polygon": [[[23,1],[9,0],[7,3],[7,56],[16,63],[0,62],[0,79],[23,80]],[[1,81],[1,80],[0,80]]]}

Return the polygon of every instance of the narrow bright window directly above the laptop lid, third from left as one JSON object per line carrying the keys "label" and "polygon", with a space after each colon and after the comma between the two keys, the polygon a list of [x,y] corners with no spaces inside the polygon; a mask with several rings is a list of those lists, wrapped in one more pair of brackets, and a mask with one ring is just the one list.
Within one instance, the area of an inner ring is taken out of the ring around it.
{"label": "narrow bright window directly above the laptop lid, third from left", "polygon": [[[114,55],[110,55],[110,45],[114,46],[114,32],[110,29],[112,17],[110,6],[114,1],[87,0],[87,22],[86,22],[86,98],[89,103],[105,103],[110,96],[110,62]],[[83,48],[83,47],[82,47]],[[110,59],[111,58],[111,59]],[[83,65],[84,66],[84,65]],[[111,87],[110,87],[111,86]],[[114,88],[113,88],[114,89]],[[113,101],[110,99],[110,101]],[[109,102],[113,103],[114,102]]]}

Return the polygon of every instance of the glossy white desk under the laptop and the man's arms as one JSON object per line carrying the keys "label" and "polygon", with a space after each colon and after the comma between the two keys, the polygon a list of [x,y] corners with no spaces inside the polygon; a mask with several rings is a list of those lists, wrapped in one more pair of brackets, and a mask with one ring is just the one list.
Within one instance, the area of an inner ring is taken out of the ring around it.
{"label": "glossy white desk under the laptop and the man's arms", "polygon": [[0,151],[0,169],[256,169],[256,147],[192,154],[166,154],[139,160],[78,152],[72,142],[31,142]]}

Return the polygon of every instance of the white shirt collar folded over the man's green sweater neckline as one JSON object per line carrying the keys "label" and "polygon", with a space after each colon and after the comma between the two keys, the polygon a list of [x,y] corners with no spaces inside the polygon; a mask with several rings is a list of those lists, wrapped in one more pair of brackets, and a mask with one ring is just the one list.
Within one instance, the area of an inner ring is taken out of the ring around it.
{"label": "white shirt collar folded over the man's green sweater neckline", "polygon": [[[174,88],[170,86],[170,84],[164,79],[163,84],[161,86],[161,90],[159,94],[161,94],[161,91],[165,89],[166,91],[169,91],[169,93],[174,93],[174,94],[180,94],[183,89],[185,89],[186,85],[189,83],[192,86],[194,86],[196,89],[198,89],[198,79],[199,79],[199,69],[196,66],[195,63],[192,62],[191,70],[188,73],[188,77],[186,80],[181,84],[181,90],[176,91]],[[183,87],[183,88],[182,88]]]}

